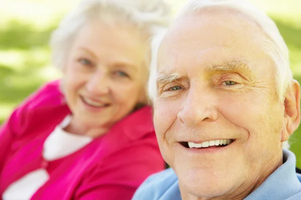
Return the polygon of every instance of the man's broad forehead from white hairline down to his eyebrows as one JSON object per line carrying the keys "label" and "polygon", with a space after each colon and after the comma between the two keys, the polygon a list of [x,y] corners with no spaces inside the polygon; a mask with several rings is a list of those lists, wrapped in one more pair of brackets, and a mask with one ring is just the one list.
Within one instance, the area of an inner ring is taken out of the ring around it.
{"label": "man's broad forehead from white hairline down to his eyebrows", "polygon": [[[183,74],[187,65],[202,65],[206,72],[252,73],[251,63],[266,59],[261,29],[256,23],[246,23],[246,17],[236,12],[231,13],[231,19],[225,17],[228,11],[210,13],[211,21],[204,19],[206,14],[183,16],[175,22],[159,49],[159,74]],[[240,19],[235,18],[236,14]],[[212,19],[219,22],[212,23]]]}

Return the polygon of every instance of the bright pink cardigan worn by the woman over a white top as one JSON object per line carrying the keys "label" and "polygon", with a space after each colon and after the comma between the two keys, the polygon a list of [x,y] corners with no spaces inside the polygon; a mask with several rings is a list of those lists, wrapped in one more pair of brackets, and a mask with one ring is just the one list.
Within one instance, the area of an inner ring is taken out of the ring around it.
{"label": "bright pink cardigan worn by the woman over a white top", "polygon": [[0,198],[7,187],[44,167],[49,180],[31,199],[130,199],[150,174],[163,170],[152,120],[142,107],[77,152],[47,162],[43,143],[70,113],[59,81],[25,100],[0,128]]}

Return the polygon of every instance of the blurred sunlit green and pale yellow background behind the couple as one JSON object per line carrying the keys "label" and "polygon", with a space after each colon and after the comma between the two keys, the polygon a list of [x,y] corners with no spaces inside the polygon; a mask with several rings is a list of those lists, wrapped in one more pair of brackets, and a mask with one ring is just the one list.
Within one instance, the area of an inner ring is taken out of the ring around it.
{"label": "blurred sunlit green and pale yellow background behind the couple", "polygon": [[[167,0],[173,12],[186,0]],[[251,0],[276,22],[290,50],[294,78],[301,83],[301,1]],[[42,83],[61,76],[51,65],[52,30],[78,0],[0,0],[0,124]],[[301,127],[290,137],[301,167]]]}

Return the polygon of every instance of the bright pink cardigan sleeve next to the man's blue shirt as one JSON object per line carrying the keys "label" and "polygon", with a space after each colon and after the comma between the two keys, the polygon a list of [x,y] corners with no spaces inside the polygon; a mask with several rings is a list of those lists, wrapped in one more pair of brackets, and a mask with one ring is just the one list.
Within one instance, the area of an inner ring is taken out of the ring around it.
{"label": "bright pink cardigan sleeve next to the man's blue shirt", "polygon": [[147,137],[107,156],[87,172],[74,199],[131,199],[147,176],[165,168],[155,132]]}

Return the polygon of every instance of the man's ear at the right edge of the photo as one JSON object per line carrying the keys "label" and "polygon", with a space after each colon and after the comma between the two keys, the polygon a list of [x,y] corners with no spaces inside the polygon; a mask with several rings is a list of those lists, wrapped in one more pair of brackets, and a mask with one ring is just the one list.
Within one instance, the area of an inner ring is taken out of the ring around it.
{"label": "man's ear at the right edge of the photo", "polygon": [[284,100],[284,118],[286,130],[282,131],[281,140],[288,140],[289,135],[297,129],[300,124],[300,84],[292,80],[291,86],[287,88]]}

